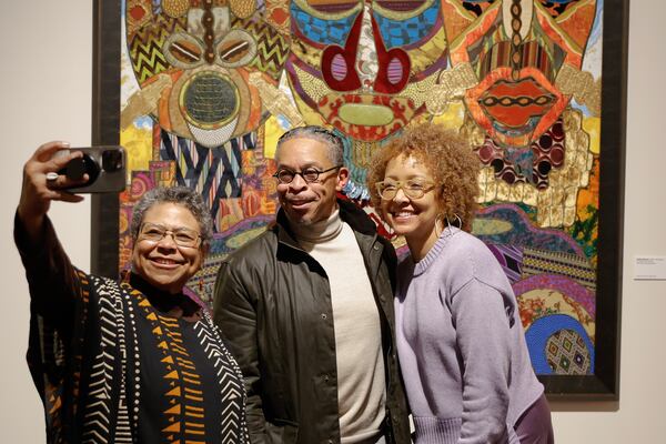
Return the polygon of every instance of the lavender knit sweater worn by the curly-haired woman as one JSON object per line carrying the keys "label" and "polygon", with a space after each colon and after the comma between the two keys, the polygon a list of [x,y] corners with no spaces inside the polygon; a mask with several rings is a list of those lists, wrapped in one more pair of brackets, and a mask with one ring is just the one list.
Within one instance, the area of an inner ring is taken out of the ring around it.
{"label": "lavender knit sweater worn by the curly-haired woman", "polygon": [[395,319],[416,444],[518,443],[513,426],[544,389],[484,243],[447,228],[422,261],[404,260]]}

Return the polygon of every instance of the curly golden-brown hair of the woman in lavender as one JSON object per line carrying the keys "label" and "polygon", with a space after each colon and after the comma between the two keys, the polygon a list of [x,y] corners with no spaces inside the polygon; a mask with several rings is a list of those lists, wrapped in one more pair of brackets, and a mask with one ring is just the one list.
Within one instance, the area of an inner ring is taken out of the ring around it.
{"label": "curly golden-brown hair of the woman in lavender", "polygon": [[441,125],[424,123],[406,129],[377,150],[367,171],[367,190],[373,206],[382,218],[385,218],[381,210],[382,198],[375,183],[384,180],[386,165],[400,155],[414,158],[432,174],[444,222],[458,225],[460,218],[461,228],[470,231],[477,209],[481,168],[470,143]]}

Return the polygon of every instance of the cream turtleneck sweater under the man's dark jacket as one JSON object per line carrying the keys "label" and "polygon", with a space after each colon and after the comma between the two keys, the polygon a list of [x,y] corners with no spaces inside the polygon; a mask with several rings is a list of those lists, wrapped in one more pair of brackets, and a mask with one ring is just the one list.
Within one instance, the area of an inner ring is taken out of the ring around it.
{"label": "cream turtleneck sweater under the man's dark jacket", "polygon": [[331,285],[342,443],[372,441],[385,416],[384,356],[380,313],[359,243],[337,210],[327,220],[292,229]]}

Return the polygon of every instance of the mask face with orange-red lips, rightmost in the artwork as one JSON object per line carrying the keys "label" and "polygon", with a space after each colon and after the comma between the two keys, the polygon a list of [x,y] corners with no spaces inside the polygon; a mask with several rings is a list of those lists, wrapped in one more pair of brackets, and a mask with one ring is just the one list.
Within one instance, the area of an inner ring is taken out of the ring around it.
{"label": "mask face with orange-red lips, rightmost in the artwork", "polygon": [[571,100],[563,73],[581,70],[596,0],[443,0],[453,67],[478,83],[465,94],[474,121],[502,147],[529,147]]}

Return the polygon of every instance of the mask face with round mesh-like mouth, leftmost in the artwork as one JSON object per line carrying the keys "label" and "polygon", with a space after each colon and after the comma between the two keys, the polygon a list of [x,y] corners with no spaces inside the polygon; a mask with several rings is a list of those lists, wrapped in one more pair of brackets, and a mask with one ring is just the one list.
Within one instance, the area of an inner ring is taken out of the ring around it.
{"label": "mask face with round mesh-like mouth, leftmost in the artwork", "polygon": [[250,74],[276,84],[289,50],[261,12],[253,1],[129,0],[128,46],[142,89],[130,118],[151,113],[164,130],[211,148],[255,130],[265,110]]}

